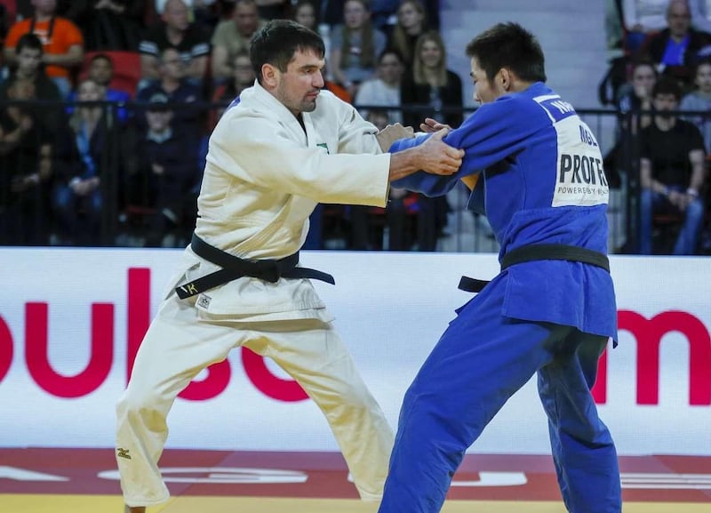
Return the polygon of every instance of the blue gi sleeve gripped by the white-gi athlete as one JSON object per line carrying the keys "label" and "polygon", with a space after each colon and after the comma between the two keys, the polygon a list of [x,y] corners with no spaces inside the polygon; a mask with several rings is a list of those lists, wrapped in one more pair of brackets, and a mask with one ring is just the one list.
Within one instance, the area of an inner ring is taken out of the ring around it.
{"label": "blue gi sleeve gripped by the white-gi athlete", "polygon": [[[426,196],[443,196],[457,181],[469,174],[482,172],[491,164],[515,156],[531,144],[531,135],[549,124],[538,104],[519,94],[503,96],[475,110],[474,114],[456,130],[444,137],[454,148],[464,149],[464,160],[459,171],[451,176],[439,176],[419,171],[393,182],[393,187],[406,188]],[[390,152],[413,148],[429,136],[396,140]]]}

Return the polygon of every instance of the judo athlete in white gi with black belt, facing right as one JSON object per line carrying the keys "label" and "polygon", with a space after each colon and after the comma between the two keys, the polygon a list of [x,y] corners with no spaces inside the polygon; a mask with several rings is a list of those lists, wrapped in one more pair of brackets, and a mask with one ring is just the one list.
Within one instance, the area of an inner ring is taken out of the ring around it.
{"label": "judo athlete in white gi with black belt, facing right", "polygon": [[322,91],[324,42],[295,22],[268,23],[251,59],[257,81],[212,133],[195,236],[117,405],[116,461],[132,513],[169,497],[157,464],[175,397],[241,346],[272,358],[316,402],[361,498],[382,493],[393,431],[308,279],[330,276],[301,268],[298,252],[317,202],[385,206],[390,180],[451,174],[464,152],[442,142],[443,130],[432,144],[383,153],[408,132],[378,132]]}

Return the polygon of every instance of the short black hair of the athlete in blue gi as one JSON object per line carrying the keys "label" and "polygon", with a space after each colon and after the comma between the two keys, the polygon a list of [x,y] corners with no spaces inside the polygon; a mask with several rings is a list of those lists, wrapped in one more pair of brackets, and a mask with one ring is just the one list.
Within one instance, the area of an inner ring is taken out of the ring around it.
{"label": "short black hair of the athlete in blue gi", "polygon": [[525,82],[546,82],[546,66],[538,39],[517,23],[499,23],[467,44],[491,82],[499,69],[508,68]]}

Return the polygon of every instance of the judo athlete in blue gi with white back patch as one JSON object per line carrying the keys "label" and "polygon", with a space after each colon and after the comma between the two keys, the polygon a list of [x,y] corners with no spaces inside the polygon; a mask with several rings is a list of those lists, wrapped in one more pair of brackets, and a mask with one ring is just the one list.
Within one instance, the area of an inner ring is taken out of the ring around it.
{"label": "judo athlete in blue gi with white back patch", "polygon": [[598,358],[617,340],[600,148],[545,84],[543,53],[525,29],[496,25],[467,55],[482,105],[444,138],[465,150],[459,172],[394,186],[431,196],[459,179],[474,186],[469,206],[483,207],[503,270],[458,310],[407,390],[379,513],[439,511],[467,448],[535,374],[566,508],[619,513],[617,453],[590,393]]}

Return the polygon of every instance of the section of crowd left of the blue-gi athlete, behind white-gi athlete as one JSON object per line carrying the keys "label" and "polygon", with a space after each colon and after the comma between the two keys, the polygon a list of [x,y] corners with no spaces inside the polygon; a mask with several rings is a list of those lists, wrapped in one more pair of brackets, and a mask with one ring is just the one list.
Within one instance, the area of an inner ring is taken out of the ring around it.
{"label": "section of crowd left of the blue-gi athlete, behind white-gi athlete", "polygon": [[[436,1],[1,2],[0,244],[186,244],[210,132],[277,18],[324,36],[326,88],[374,124],[461,122]],[[317,209],[307,247],[434,251],[446,199],[391,199]]]}

